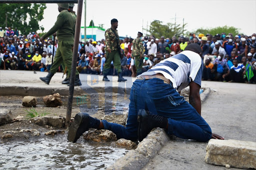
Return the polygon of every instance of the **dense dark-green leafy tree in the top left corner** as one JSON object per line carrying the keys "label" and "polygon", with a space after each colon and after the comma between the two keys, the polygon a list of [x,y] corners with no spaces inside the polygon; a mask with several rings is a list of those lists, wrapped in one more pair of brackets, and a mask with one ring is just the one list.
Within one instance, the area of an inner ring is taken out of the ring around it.
{"label": "dense dark-green leafy tree in the top left corner", "polygon": [[38,24],[43,19],[45,3],[0,3],[0,26],[17,28],[22,34],[44,30]]}

